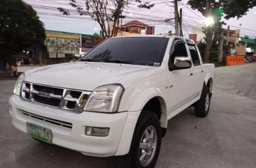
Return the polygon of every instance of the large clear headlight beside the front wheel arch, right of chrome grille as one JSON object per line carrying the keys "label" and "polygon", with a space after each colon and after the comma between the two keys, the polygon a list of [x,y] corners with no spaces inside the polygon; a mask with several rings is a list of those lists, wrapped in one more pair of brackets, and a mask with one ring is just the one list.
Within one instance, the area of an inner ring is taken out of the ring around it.
{"label": "large clear headlight beside the front wheel arch, right of chrome grille", "polygon": [[125,89],[118,84],[99,86],[94,89],[85,105],[90,112],[118,112],[118,106]]}

